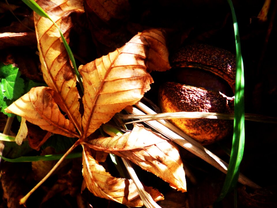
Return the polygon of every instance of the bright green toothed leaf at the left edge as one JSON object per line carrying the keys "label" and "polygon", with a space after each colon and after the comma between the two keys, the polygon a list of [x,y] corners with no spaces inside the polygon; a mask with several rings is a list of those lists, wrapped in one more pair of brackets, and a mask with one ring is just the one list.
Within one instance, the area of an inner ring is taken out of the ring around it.
{"label": "bright green toothed leaf at the left edge", "polygon": [[0,63],[0,88],[4,98],[17,100],[23,95],[24,80],[20,75],[17,67]]}

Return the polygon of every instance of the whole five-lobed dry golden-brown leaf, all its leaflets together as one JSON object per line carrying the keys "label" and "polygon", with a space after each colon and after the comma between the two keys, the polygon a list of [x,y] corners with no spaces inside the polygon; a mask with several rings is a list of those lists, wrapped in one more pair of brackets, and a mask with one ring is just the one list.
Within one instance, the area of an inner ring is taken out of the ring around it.
{"label": "whole five-lobed dry golden-brown leaf, all its leaflets together", "polygon": [[[63,4],[65,2],[66,7]],[[68,33],[72,27],[70,14],[84,12],[83,6],[80,1],[74,0],[59,3],[59,5],[43,4],[42,7],[56,21],[69,41]],[[62,9],[56,10],[57,6]],[[114,52],[85,66],[81,65],[79,70],[84,84],[82,97],[84,113],[81,115],[76,76],[60,41],[57,28],[48,19],[35,14],[35,29],[41,69],[48,87],[32,88],[6,108],[6,112],[20,115],[48,132],[79,138],[78,142],[83,147],[83,176],[87,188],[102,198],[130,206],[142,206],[143,203],[131,179],[112,177],[92,157],[90,151],[92,146],[89,143],[95,139],[91,140],[89,136],[103,123],[108,122],[115,113],[135,104],[143,97],[153,82],[149,72],[165,71],[170,68],[165,32],[161,29],[143,31]],[[113,147],[103,146],[103,143],[97,150],[118,153],[161,177],[172,187],[186,191],[185,173],[177,147],[139,125],[136,125],[134,130],[131,136],[126,133],[127,135],[121,138],[104,138],[106,141],[117,139],[121,151],[111,150]],[[140,142],[139,146],[134,146],[145,136],[148,141],[151,141],[149,138],[152,137],[156,144],[145,141]],[[154,138],[160,138],[159,142]],[[133,148],[128,149],[125,145]],[[145,187],[145,190],[155,201],[163,199],[158,190],[151,187]]]}

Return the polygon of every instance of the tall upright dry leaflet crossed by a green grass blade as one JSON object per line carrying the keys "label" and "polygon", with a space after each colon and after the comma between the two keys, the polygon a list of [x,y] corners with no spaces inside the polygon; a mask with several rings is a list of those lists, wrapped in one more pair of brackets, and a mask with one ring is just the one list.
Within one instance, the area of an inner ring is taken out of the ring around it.
{"label": "tall upright dry leaflet crossed by a green grass blade", "polygon": [[[83,1],[78,0],[38,0],[37,3],[56,22],[66,39],[72,27],[70,14],[84,12]],[[76,76],[59,30],[49,19],[38,14],[35,14],[35,30],[44,80],[55,90],[55,101],[81,132]]]}

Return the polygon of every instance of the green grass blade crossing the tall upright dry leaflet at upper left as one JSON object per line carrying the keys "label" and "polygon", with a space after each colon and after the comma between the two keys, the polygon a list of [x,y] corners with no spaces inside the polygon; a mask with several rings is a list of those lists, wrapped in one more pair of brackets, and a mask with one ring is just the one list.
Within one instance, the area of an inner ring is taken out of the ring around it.
{"label": "green grass blade crossing the tall upright dry leaflet at upper left", "polygon": [[74,71],[75,71],[75,74],[76,74],[77,79],[78,79],[78,81],[80,83],[81,89],[84,92],[83,82],[82,82],[80,74],[78,72],[78,69],[77,69],[77,66],[76,66],[76,62],[75,62],[73,53],[72,53],[68,43],[66,42],[61,29],[58,27],[58,25],[50,18],[50,16],[48,16],[48,14],[46,14],[46,12],[34,0],[22,0],[22,1],[28,7],[30,7],[34,12],[36,12],[38,15],[40,15],[42,17],[45,17],[45,18],[48,18],[49,20],[51,20],[54,23],[54,25],[59,29],[59,32],[61,34],[61,39],[62,39],[63,44],[65,46],[65,49],[66,49],[66,51],[68,53],[69,59],[71,60],[71,63],[73,65],[73,68],[74,68]]}

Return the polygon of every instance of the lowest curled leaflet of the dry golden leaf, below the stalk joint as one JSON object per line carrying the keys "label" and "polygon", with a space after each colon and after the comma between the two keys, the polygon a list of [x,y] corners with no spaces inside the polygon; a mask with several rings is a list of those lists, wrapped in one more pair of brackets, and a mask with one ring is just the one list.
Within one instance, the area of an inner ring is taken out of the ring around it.
{"label": "lowest curled leaflet of the dry golden leaf, below the stalk joint", "polygon": [[[142,206],[143,203],[132,180],[115,178],[91,156],[87,146],[83,146],[83,176],[87,188],[95,196],[113,200],[128,206]],[[155,201],[162,200],[158,190],[144,187]]]}

